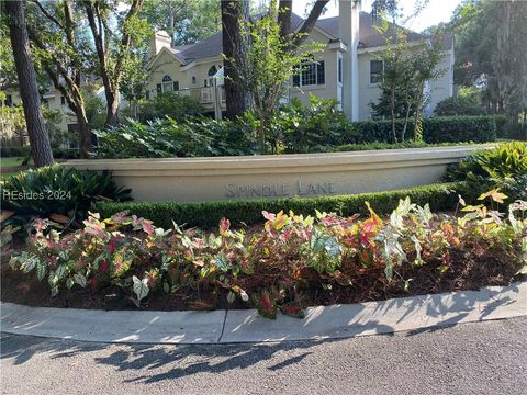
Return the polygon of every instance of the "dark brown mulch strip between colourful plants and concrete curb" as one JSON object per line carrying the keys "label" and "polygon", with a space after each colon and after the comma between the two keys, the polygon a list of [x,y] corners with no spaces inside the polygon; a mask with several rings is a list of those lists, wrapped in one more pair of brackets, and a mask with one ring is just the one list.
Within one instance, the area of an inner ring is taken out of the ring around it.
{"label": "dark brown mulch strip between colourful plants and concrete curb", "polygon": [[[2,259],[1,268],[1,300],[29,306],[42,307],[75,307],[99,309],[137,309],[130,298],[130,294],[119,286],[108,286],[92,290],[89,286],[81,289],[75,285],[71,290],[63,287],[60,293],[49,296],[46,281],[37,281],[34,273],[30,275],[13,271]],[[450,268],[438,275],[437,264],[413,267],[403,264],[397,268],[404,279],[412,279],[410,289],[404,290],[404,283],[394,280],[388,283],[383,268],[357,267],[360,278],[351,286],[334,286],[322,291],[316,287],[303,291],[304,305],[332,305],[345,303],[360,303],[382,301],[392,297],[441,293],[461,290],[479,290],[486,285],[508,285],[514,281],[525,280],[526,276],[516,275],[518,267],[513,262],[504,262],[498,257],[483,252],[476,259],[452,251]],[[180,311],[205,309],[213,304],[215,308],[244,309],[251,306],[242,301],[228,304],[226,294],[213,294],[206,290],[193,293],[166,294],[162,291],[154,292],[142,302],[142,309]]]}

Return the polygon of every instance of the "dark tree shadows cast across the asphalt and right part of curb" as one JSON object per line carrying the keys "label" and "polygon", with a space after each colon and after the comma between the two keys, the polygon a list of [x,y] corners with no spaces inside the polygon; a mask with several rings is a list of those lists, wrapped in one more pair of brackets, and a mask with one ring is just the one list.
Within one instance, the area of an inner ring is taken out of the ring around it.
{"label": "dark tree shadows cast across the asphalt and right part of curb", "polygon": [[[514,291],[514,287],[513,287]],[[517,291],[517,290],[516,290]],[[451,295],[427,295],[422,301],[427,303],[406,303],[405,311],[400,319],[417,313],[422,309],[426,316],[441,317],[434,327],[410,330],[406,336],[418,335],[437,330],[442,326],[455,326],[462,320],[469,312],[478,309],[480,318],[489,316],[495,308],[514,303],[511,297],[500,297],[500,292],[485,290],[475,293],[456,293]],[[431,303],[430,303],[431,300]],[[494,300],[495,302],[489,303]],[[391,307],[403,303],[403,300],[386,301],[379,305],[375,317],[382,317]],[[483,308],[481,304],[486,302]],[[426,306],[426,308],[424,308]],[[457,314],[452,315],[452,312]],[[322,317],[316,317],[322,318]],[[316,319],[315,318],[315,319]],[[352,317],[349,317],[350,319]],[[365,316],[366,318],[366,316]],[[393,328],[381,324],[381,320],[366,319],[354,324],[350,334],[357,336],[361,332],[375,328],[379,334],[393,335]],[[399,321],[397,321],[399,323]],[[299,320],[299,325],[303,325]],[[341,339],[321,340],[324,342],[338,342]],[[285,341],[280,343],[225,343],[225,345],[109,345],[81,342],[74,340],[57,340],[18,335],[2,335],[0,339],[0,358],[12,359],[13,364],[23,364],[38,353],[51,353],[52,359],[75,357],[82,353],[83,358],[98,364],[111,365],[116,371],[136,371],[137,376],[130,382],[146,384],[180,379],[199,373],[223,373],[231,370],[243,370],[255,364],[269,361],[280,353],[291,357],[273,365],[267,366],[270,371],[279,371],[292,364],[302,363],[303,359],[313,353],[312,348],[321,341]],[[106,350],[104,357],[98,351]],[[291,351],[291,352],[290,352]],[[90,353],[97,353],[98,356]],[[283,358],[283,357],[282,357]],[[169,365],[170,369],[159,374],[152,374],[160,366]],[[142,374],[142,372],[145,372]]]}

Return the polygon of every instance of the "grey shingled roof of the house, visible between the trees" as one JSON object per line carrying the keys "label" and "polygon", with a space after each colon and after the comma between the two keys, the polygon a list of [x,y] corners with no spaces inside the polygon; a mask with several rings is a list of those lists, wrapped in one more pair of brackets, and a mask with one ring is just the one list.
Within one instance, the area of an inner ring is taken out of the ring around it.
{"label": "grey shingled roof of the house, visible between the trees", "polygon": [[[292,25],[296,27],[303,22],[303,19],[296,14],[293,14]],[[322,33],[328,36],[329,40],[338,40],[338,16],[321,19],[315,25]],[[425,40],[427,36],[406,30],[408,42]],[[386,43],[386,38],[393,36],[393,31],[389,30],[385,34],[381,34],[373,24],[371,14],[368,12],[360,12],[359,14],[359,46],[361,48],[371,48],[383,46]],[[445,48],[451,47],[451,35],[444,37]],[[347,44],[347,43],[345,43]],[[183,64],[189,64],[193,60],[217,57],[223,52],[222,32],[213,34],[209,38],[205,38],[199,43],[190,45],[181,45],[170,48]]]}

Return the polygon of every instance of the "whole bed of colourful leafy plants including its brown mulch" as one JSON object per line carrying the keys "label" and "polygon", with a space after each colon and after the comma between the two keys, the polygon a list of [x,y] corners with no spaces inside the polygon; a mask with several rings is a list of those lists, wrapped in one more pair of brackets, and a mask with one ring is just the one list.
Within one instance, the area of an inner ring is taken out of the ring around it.
{"label": "whole bed of colourful leafy plants including its brown mulch", "polygon": [[527,273],[527,203],[505,207],[503,199],[497,190],[476,205],[460,199],[459,215],[410,199],[384,218],[368,203],[363,217],[264,212],[264,227],[232,229],[223,218],[215,233],[164,229],[126,213],[90,214],[74,233],[37,219],[27,248],[11,251],[19,283],[2,284],[2,300],[25,292],[42,304],[47,284],[67,306],[253,306],[274,318],[301,317],[312,304],[508,284]]}

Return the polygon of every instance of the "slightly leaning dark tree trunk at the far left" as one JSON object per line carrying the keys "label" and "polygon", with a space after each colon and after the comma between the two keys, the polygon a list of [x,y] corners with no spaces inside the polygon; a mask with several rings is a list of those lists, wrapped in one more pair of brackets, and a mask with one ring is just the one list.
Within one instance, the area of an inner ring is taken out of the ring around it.
{"label": "slightly leaning dark tree trunk at the far left", "polygon": [[36,167],[49,166],[53,165],[53,151],[41,109],[24,4],[22,0],[5,1],[4,4],[33,159]]}

